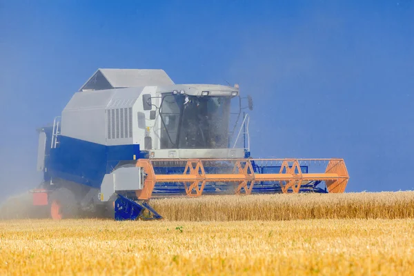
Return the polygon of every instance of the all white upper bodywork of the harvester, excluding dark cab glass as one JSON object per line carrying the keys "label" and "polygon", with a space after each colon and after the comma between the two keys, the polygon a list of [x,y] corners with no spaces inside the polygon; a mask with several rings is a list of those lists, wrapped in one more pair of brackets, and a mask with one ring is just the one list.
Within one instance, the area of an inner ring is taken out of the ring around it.
{"label": "all white upper bodywork of the harvester, excluding dark cab glass", "polygon": [[[105,78],[94,79],[97,73]],[[137,83],[156,83],[157,86],[76,92],[62,112],[61,135],[106,146],[139,144],[141,150],[156,150],[155,158],[244,157],[244,150],[226,148],[180,149],[176,150],[175,157],[168,157],[169,150],[161,150],[160,142],[159,107],[164,93],[178,91],[201,96],[203,91],[209,91],[210,96],[228,97],[238,93],[238,88],[208,84],[175,85],[162,70],[98,70],[97,73],[84,86],[93,88],[94,81],[101,81],[101,86],[103,81],[114,87],[135,86]],[[155,112],[155,119],[150,119],[151,110],[144,110],[143,95],[150,96],[150,108]]]}

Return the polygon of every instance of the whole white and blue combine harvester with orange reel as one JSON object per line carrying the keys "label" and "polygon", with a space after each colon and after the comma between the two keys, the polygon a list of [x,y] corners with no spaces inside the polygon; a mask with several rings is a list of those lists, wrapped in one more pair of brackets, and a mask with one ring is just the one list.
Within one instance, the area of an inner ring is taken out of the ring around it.
{"label": "whole white and blue combine harvester with orange reel", "polygon": [[343,159],[251,158],[246,99],[252,110],[237,85],[99,69],[53,125],[39,129],[43,183],[31,191],[33,204],[53,219],[114,211],[118,220],[159,219],[152,197],[344,193]]}

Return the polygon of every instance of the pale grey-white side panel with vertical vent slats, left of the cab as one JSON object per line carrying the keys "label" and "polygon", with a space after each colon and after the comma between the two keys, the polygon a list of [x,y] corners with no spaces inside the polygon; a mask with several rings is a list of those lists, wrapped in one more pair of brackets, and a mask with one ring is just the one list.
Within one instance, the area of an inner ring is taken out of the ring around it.
{"label": "pale grey-white side panel with vertical vent slats, left of the cab", "polygon": [[137,117],[138,110],[142,110],[143,90],[155,88],[75,93],[62,112],[61,135],[107,146],[140,144],[146,128],[144,118],[139,131]]}

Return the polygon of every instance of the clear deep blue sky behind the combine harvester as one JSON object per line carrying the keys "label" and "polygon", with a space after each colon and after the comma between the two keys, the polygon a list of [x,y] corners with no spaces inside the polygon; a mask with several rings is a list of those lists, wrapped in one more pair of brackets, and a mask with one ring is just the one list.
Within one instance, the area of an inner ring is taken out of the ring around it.
{"label": "clear deep blue sky behind the combine harvester", "polygon": [[[253,157],[343,157],[348,191],[414,189],[414,1],[2,1],[0,184],[97,68],[253,96]],[[226,80],[226,81],[225,81]]]}

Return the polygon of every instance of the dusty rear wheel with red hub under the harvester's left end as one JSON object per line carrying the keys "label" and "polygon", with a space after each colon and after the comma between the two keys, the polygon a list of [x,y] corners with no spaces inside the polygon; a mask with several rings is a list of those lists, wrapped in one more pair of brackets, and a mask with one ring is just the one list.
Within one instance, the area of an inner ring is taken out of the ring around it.
{"label": "dusty rear wheel with red hub under the harvester's left end", "polygon": [[[52,210],[53,201],[60,205],[61,219],[71,219],[79,215],[79,205],[75,194],[67,188],[58,188],[54,190],[49,197],[50,210]],[[50,214],[52,216],[52,214]]]}

